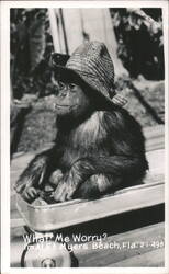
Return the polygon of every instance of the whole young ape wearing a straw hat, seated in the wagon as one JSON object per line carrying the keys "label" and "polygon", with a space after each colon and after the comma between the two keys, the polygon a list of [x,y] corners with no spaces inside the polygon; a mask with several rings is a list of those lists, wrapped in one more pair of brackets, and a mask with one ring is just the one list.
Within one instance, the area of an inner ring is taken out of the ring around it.
{"label": "whole young ape wearing a straw hat, seated in the wagon", "polygon": [[148,164],[139,124],[113,89],[114,68],[103,43],[79,46],[66,62],[53,55],[57,136],[55,146],[29,164],[15,184],[26,201],[45,184],[54,199],[95,198],[140,180]]}

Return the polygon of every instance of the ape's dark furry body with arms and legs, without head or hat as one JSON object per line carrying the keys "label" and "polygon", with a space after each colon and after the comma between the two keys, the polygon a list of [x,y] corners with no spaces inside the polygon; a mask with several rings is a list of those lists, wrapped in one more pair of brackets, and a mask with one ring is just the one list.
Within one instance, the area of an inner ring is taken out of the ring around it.
{"label": "ape's dark furry body with arms and legs, without head or hat", "polygon": [[122,107],[105,107],[93,94],[91,101],[83,115],[57,118],[55,146],[37,155],[15,185],[25,199],[49,181],[55,201],[64,202],[98,197],[144,176],[148,164],[139,124]]}

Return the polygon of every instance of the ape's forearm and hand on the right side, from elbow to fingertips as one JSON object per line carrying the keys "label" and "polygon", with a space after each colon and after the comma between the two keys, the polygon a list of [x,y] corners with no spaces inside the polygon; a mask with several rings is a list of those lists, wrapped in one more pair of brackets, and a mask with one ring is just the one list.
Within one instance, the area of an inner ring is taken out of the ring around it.
{"label": "ape's forearm and hand on the right side, from elbow to fingertips", "polygon": [[[56,201],[72,198],[76,190],[94,174],[111,174],[112,183],[142,178],[147,169],[145,159],[138,157],[99,157],[78,160],[74,163],[64,182],[60,181],[55,192]],[[108,184],[110,189],[110,184]]]}

